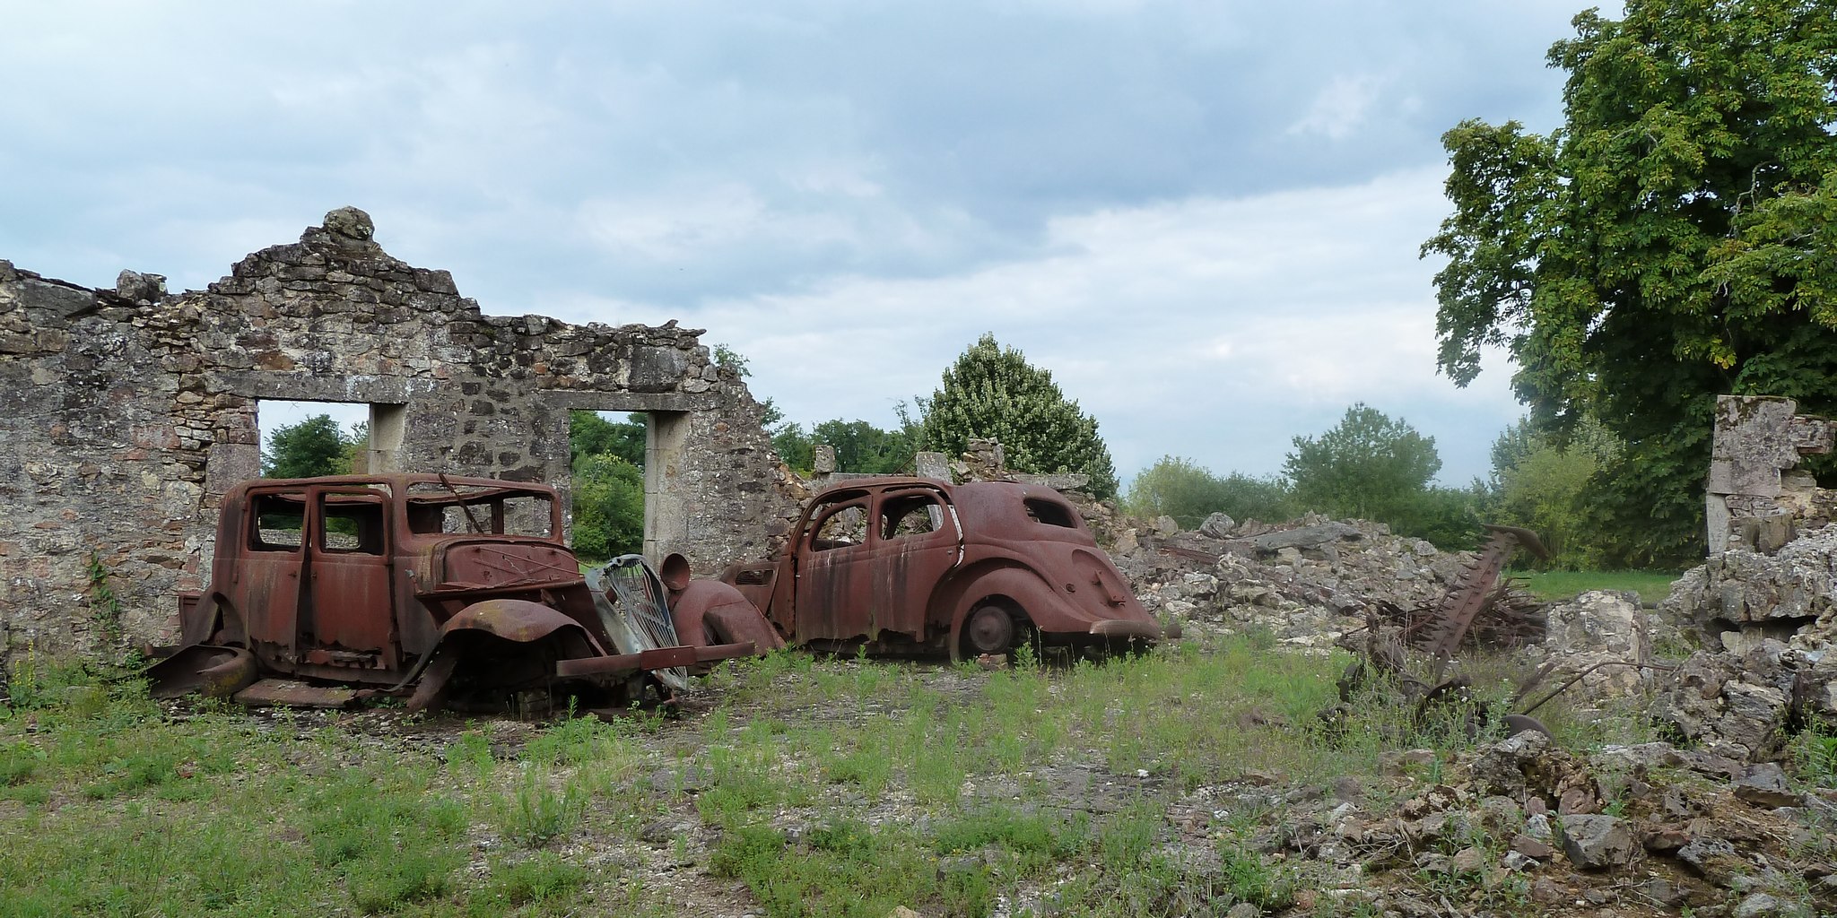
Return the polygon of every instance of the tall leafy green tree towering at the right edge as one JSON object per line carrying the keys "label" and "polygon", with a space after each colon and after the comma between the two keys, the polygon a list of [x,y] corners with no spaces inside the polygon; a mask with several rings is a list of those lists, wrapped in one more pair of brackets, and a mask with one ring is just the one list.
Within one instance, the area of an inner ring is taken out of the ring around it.
{"label": "tall leafy green tree towering at the right edge", "polygon": [[1719,393],[1837,400],[1837,13],[1830,0],[1629,0],[1550,48],[1550,134],[1444,134],[1455,213],[1424,244],[1440,367],[1508,349],[1534,426],[1600,419],[1620,564],[1699,556]]}

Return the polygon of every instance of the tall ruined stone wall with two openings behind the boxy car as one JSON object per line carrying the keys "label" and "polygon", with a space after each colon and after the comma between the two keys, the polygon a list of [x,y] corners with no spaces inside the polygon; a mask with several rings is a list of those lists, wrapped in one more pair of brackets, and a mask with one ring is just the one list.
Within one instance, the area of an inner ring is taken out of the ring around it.
{"label": "tall ruined stone wall with two openings behind the boxy car", "polygon": [[761,406],[698,336],[485,316],[349,207],[176,296],[0,261],[0,659],[171,641],[220,496],[259,474],[261,398],[369,404],[373,470],[564,490],[569,409],[647,411],[647,554],[762,553],[788,498]]}

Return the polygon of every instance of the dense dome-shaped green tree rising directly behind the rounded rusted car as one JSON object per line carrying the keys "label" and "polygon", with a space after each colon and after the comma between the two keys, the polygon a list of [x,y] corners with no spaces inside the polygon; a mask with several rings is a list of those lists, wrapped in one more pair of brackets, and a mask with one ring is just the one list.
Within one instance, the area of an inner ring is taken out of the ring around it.
{"label": "dense dome-shaped green tree rising directly behind the rounded rusted car", "polygon": [[1016,472],[1082,472],[1099,498],[1117,492],[1097,420],[1065,398],[1051,371],[1001,347],[994,334],[983,334],[944,371],[931,398],[918,398],[918,411],[926,450],[959,455],[972,437],[994,439]]}

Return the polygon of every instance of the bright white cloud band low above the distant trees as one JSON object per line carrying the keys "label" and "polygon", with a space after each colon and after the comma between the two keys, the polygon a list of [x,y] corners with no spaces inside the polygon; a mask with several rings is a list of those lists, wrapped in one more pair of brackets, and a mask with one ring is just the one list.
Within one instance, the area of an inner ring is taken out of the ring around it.
{"label": "bright white cloud band low above the distant trees", "polygon": [[942,277],[834,277],[693,310],[580,297],[564,316],[683,316],[751,358],[753,389],[803,422],[930,395],[983,330],[1047,367],[1102,424],[1122,472],[1161,453],[1273,474],[1350,402],[1440,433],[1446,479],[1484,470],[1517,415],[1503,373],[1435,373],[1440,171],[1054,220],[1047,253]]}

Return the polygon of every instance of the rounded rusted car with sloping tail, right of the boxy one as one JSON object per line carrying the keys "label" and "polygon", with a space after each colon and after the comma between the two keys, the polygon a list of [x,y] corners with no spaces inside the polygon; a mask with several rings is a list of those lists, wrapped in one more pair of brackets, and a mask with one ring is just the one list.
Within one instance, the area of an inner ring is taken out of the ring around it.
{"label": "rounded rusted car with sloping tail, right of the boxy one", "polygon": [[1161,637],[1078,510],[1045,487],[836,485],[781,556],[720,578],[794,646],[964,659],[1027,641],[1119,650]]}

